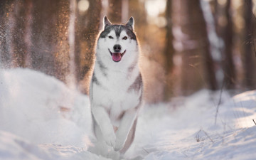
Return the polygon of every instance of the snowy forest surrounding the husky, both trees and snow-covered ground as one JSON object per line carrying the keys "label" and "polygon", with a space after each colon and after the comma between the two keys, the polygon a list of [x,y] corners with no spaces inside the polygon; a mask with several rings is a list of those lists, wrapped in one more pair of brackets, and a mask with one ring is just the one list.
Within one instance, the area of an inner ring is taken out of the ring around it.
{"label": "snowy forest surrounding the husky, both trees and snow-covered ground", "polygon": [[104,16],[133,16],[141,50],[145,105],[124,159],[255,159],[255,4],[0,1],[0,159],[107,159],[88,150]]}

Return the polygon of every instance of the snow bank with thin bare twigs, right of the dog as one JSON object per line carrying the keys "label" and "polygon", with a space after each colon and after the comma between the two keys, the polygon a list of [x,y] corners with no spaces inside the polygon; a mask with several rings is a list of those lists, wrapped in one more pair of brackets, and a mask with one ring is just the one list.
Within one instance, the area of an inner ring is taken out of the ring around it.
{"label": "snow bank with thin bare twigs, right of the dog", "polygon": [[201,90],[170,104],[149,106],[129,154],[142,154],[146,160],[255,159],[255,111],[255,91],[230,98],[225,91]]}

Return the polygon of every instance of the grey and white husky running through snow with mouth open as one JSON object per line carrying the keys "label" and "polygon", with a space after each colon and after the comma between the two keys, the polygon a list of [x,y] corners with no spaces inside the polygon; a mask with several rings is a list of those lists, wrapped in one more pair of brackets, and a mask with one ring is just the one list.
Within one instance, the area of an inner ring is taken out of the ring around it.
{"label": "grey and white husky running through snow with mouth open", "polygon": [[124,154],[134,140],[142,105],[142,75],[134,18],[112,24],[103,18],[90,82],[93,129],[98,142]]}

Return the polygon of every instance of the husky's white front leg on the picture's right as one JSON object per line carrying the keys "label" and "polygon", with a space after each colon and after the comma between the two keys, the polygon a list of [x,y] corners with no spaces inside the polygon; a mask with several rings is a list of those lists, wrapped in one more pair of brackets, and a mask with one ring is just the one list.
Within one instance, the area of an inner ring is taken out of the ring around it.
{"label": "husky's white front leg on the picture's right", "polygon": [[119,124],[119,128],[116,133],[116,142],[114,146],[115,151],[119,151],[124,147],[124,143],[127,139],[130,129],[132,128],[132,124],[134,123],[134,119],[137,117],[137,110],[134,108],[131,110],[127,110],[124,113],[124,117]]}

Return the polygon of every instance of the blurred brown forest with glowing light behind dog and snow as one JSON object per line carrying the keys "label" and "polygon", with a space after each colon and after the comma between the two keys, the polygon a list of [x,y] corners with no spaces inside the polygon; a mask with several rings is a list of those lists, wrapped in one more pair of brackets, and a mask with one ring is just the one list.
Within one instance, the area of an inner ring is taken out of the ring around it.
{"label": "blurred brown forest with glowing light behind dog and snow", "polygon": [[256,0],[0,1],[0,67],[31,68],[87,94],[107,15],[135,19],[149,103],[256,87]]}

